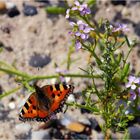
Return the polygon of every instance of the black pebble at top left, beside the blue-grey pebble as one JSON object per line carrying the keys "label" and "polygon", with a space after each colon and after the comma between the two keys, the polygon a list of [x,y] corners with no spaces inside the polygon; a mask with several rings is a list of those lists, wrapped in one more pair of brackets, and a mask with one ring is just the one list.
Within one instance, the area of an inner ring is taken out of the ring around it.
{"label": "black pebble at top left, beside the blue-grey pebble", "polygon": [[17,9],[17,7],[13,7],[11,9],[8,9],[7,11],[7,15],[10,18],[13,18],[15,16],[18,16],[20,14],[19,10]]}

